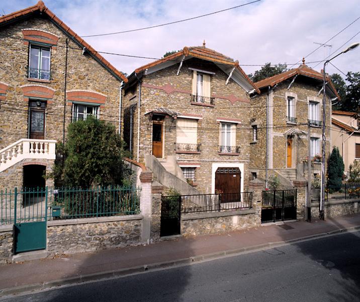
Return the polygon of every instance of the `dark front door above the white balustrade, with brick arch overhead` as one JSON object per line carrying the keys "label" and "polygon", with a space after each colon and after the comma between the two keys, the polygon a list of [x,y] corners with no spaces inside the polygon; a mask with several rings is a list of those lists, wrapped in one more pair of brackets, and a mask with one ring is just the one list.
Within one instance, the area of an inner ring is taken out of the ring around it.
{"label": "dark front door above the white balustrade, with brick arch overhead", "polygon": [[45,102],[31,101],[29,109],[29,138],[45,138]]}

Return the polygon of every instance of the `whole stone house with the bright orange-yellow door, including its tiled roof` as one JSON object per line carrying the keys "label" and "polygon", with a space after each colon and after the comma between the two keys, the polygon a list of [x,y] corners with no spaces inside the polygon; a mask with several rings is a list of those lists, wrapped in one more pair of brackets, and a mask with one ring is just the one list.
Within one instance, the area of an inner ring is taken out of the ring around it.
{"label": "whole stone house with the bright orange-yellow door, including its tiled roof", "polygon": [[[268,186],[269,179],[276,175],[283,187],[293,187],[294,180],[306,180],[309,157],[313,162],[311,174],[321,174],[322,83],[322,74],[308,67],[304,59],[297,68],[255,83],[261,93],[251,99],[252,178],[265,180]],[[331,99],[339,96],[330,80],[326,88],[327,158],[331,145]]]}

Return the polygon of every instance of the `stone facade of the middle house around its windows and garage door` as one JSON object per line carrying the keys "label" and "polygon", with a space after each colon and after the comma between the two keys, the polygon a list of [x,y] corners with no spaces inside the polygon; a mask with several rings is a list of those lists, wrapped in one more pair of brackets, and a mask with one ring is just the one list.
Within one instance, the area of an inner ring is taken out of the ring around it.
{"label": "stone facade of the middle house around its windows and garage door", "polygon": [[[141,84],[136,82],[125,88],[124,139],[131,149],[132,157],[143,162],[145,155],[152,154],[152,124],[156,122],[156,119],[152,120],[151,116],[146,113],[159,107],[170,109],[179,113],[180,116],[192,116],[193,119],[197,119],[197,143],[201,146],[200,152],[175,151],[176,119],[166,116],[163,119],[162,158],[176,156],[180,166],[196,166],[195,185],[202,193],[214,193],[216,167],[238,167],[242,178],[241,191],[246,191],[250,157],[250,116],[248,114],[250,99],[248,93],[232,79],[226,85],[228,75],[210,61],[197,58],[186,60],[181,71],[176,75],[178,67],[179,64],[175,64],[143,75]],[[215,98],[213,106],[191,102],[193,70],[189,68],[212,72],[210,86],[211,97]],[[238,153],[219,153],[219,119],[234,121],[236,146],[240,147]],[[139,144],[138,124],[140,125]]]}

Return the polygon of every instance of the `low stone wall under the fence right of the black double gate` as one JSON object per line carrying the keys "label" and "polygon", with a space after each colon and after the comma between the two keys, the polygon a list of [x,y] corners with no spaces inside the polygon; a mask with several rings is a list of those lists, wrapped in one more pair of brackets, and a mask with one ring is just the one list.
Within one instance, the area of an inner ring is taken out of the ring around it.
{"label": "low stone wall under the fence right of the black double gate", "polygon": [[[325,217],[336,217],[360,212],[360,199],[343,199],[325,202]],[[311,217],[319,217],[319,203],[311,204]]]}

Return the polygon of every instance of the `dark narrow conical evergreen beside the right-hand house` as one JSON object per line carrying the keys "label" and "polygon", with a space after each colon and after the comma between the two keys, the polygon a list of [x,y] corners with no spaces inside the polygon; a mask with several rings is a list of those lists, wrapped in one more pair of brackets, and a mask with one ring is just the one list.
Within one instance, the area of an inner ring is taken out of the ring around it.
{"label": "dark narrow conical evergreen beside the right-hand house", "polygon": [[335,191],[340,190],[344,169],[345,166],[342,157],[340,156],[339,149],[334,147],[327,160],[327,185],[329,188]]}

